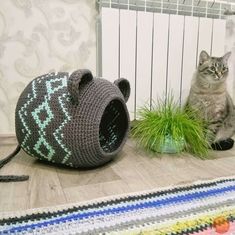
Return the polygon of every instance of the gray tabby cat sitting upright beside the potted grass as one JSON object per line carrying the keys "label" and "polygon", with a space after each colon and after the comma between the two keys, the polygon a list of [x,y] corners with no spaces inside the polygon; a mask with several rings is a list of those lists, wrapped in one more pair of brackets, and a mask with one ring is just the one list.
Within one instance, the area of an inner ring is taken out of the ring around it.
{"label": "gray tabby cat sitting upright beside the potted grass", "polygon": [[231,137],[235,133],[235,107],[226,88],[230,55],[228,52],[223,57],[211,57],[205,51],[200,53],[186,102],[208,123],[214,150],[227,150],[234,144]]}

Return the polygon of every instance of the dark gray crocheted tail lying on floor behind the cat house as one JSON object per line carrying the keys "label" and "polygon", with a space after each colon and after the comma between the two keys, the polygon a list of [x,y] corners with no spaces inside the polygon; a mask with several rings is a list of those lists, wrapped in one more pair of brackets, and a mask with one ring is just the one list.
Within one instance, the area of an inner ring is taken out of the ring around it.
{"label": "dark gray crocheted tail lying on floor behind the cat house", "polygon": [[[11,154],[9,154],[4,159],[0,160],[0,169],[8,162],[10,162],[11,159],[15,157],[19,151],[20,151],[20,145],[18,145]],[[17,182],[17,181],[25,181],[28,179],[29,179],[28,175],[0,175],[0,182]]]}

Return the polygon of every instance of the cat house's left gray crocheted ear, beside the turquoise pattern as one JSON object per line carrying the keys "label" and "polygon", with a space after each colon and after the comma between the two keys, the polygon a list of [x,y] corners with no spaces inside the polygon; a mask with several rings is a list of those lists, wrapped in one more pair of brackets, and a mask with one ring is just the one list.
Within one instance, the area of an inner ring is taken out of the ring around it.
{"label": "cat house's left gray crocheted ear, beside the turquoise pattern", "polygon": [[90,82],[93,75],[88,69],[79,69],[74,71],[68,78],[68,91],[72,97],[72,101],[77,104],[79,97],[79,87]]}

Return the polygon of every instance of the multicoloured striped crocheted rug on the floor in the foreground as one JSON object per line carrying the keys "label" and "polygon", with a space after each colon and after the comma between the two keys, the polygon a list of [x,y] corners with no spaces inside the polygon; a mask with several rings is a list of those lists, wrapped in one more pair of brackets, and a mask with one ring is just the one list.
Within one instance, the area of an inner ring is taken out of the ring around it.
{"label": "multicoloured striped crocheted rug on the floor in the foreground", "polygon": [[0,234],[235,234],[235,177],[5,213]]}

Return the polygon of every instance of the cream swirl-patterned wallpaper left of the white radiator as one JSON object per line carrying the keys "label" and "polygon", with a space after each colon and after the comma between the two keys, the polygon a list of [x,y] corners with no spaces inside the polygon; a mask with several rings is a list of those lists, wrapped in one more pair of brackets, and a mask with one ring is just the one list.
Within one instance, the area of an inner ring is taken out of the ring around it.
{"label": "cream swirl-patterned wallpaper left of the white radiator", "polygon": [[51,71],[96,74],[95,0],[0,1],[0,134],[14,134],[24,87]]}

